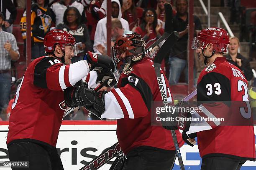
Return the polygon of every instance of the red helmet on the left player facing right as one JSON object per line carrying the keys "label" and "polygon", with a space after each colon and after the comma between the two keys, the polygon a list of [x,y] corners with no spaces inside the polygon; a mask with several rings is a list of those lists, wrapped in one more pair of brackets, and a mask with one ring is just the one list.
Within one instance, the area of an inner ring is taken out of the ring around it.
{"label": "red helmet on the left player facing right", "polygon": [[74,47],[74,56],[77,55],[76,40],[73,35],[64,30],[51,30],[44,37],[45,52],[54,52],[54,45],[59,44],[62,50],[66,45]]}

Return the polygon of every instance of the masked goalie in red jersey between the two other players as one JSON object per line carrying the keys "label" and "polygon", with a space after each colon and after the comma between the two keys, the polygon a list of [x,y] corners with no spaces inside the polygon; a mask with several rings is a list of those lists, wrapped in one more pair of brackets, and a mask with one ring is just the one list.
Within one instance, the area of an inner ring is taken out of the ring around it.
{"label": "masked goalie in red jersey between the two other players", "polygon": [[[127,155],[124,170],[170,170],[176,151],[171,132],[151,125],[151,102],[162,99],[153,62],[144,56],[144,47],[141,35],[119,37],[113,47],[116,67],[123,68],[118,88],[97,92],[69,87],[64,92],[65,100],[68,106],[83,105],[100,118],[117,119],[118,141]],[[168,80],[161,73],[168,101],[172,102]],[[176,133],[182,146],[181,134]]]}

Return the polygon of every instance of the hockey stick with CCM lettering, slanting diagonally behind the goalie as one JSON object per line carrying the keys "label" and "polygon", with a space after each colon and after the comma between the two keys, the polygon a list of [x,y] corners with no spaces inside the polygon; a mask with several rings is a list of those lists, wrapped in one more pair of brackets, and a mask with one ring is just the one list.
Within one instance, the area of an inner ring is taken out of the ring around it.
{"label": "hockey stick with CCM lettering, slanting diagonally behind the goalie", "polygon": [[[179,107],[183,105],[184,101],[190,100],[192,97],[197,95],[197,90],[193,91],[186,97],[184,97],[182,100],[180,100],[175,107]],[[111,146],[105,153],[100,154],[95,159],[93,159],[90,163],[87,165],[84,165],[79,170],[97,170],[98,168],[102,167],[105,163],[107,163],[109,160],[114,158],[116,155],[122,153],[122,150],[120,148],[119,143],[115,143],[113,146]]]}

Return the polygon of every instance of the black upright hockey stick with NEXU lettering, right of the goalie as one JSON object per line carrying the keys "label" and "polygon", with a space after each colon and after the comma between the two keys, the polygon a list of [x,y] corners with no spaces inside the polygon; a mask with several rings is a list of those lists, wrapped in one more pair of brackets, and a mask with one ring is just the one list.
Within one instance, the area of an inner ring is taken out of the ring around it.
{"label": "black upright hockey stick with NEXU lettering, right of the goalie", "polygon": [[[164,4],[164,7],[165,7],[165,12],[172,12],[171,5]],[[168,26],[169,26],[169,30],[173,30],[172,14],[166,15],[166,20],[171,21]],[[178,41],[178,39],[179,39],[179,33],[176,31],[172,32],[172,34],[167,38],[167,40],[164,42],[164,44],[161,46],[161,48],[157,52],[156,57],[154,58],[154,68],[155,68],[155,72],[156,72],[156,78],[157,78],[157,82],[159,85],[159,90],[161,92],[161,97],[163,100],[164,107],[168,105],[168,102],[167,102],[167,98],[166,98],[166,92],[164,90],[164,84],[163,84],[162,77],[161,77],[161,71],[160,71],[161,62],[164,59],[164,57],[168,54],[169,49]],[[179,144],[177,141],[176,133],[174,130],[171,130],[171,132],[172,132],[172,139],[173,139],[174,146],[175,146],[176,153],[177,153],[178,160],[179,160],[180,169],[185,170],[184,164],[182,161],[182,155],[179,150]]]}

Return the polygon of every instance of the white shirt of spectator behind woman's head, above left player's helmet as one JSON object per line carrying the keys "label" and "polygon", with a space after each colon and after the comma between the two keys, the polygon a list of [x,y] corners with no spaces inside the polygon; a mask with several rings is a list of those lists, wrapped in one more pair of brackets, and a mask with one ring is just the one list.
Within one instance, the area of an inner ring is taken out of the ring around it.
{"label": "white shirt of spectator behind woman's head, above left player's helmet", "polygon": [[[69,5],[69,7],[76,7],[81,15],[84,10],[84,6],[81,3],[74,0],[72,1],[71,5]],[[64,0],[61,0],[60,2],[55,2],[51,5],[51,9],[56,15],[56,25],[63,23],[63,15],[67,8],[68,7],[65,5]]]}

